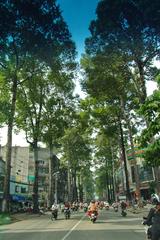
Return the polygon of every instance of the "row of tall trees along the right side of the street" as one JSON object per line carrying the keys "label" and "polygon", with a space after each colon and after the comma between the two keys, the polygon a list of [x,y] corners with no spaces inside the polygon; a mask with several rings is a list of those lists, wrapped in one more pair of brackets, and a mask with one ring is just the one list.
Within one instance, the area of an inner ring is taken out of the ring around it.
{"label": "row of tall trees along the right side of the street", "polygon": [[[128,199],[131,194],[126,150],[132,151],[136,192],[140,197],[134,145],[144,128],[139,145],[143,143],[147,148],[144,158],[154,167],[156,190],[160,194],[159,88],[152,97],[147,98],[146,93],[146,81],[156,81],[159,76],[154,66],[160,53],[159,9],[160,3],[156,0],[152,3],[100,1],[97,18],[90,23],[91,36],[85,41],[86,53],[81,59],[84,69],[82,87],[88,93],[85,102],[96,136],[95,156],[101,160],[104,172],[98,170],[97,183],[102,186],[106,178],[104,189],[110,185],[111,177],[108,176],[112,174],[113,160],[121,158]],[[100,139],[104,140],[97,145]]]}

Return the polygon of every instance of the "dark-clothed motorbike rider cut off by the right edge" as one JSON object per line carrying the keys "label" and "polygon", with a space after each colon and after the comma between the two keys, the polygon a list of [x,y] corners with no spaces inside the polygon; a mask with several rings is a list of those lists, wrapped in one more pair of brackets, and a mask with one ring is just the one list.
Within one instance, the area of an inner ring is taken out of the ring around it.
{"label": "dark-clothed motorbike rider cut off by the right edge", "polygon": [[160,239],[160,201],[155,199],[153,201],[156,204],[155,208],[151,208],[147,219],[144,221],[144,225],[151,225],[151,228],[148,234],[151,234],[151,240],[159,240]]}

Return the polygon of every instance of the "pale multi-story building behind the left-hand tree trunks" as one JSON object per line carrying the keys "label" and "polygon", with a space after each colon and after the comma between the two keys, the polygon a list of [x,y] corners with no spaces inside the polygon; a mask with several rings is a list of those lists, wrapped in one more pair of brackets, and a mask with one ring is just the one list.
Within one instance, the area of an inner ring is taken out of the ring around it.
{"label": "pale multi-story building behind the left-hand tree trunks", "polygon": [[[0,177],[0,198],[3,197],[1,191],[4,180],[4,166],[6,157],[6,146],[2,147],[2,158],[0,160],[0,171],[3,173]],[[46,148],[38,148],[38,193],[39,203],[48,205],[48,190],[49,190],[49,160],[50,153]],[[59,159],[53,154],[53,195],[58,195],[58,164]],[[3,169],[3,170],[2,170]],[[56,173],[56,174],[55,174]],[[55,178],[56,176],[56,178]],[[10,195],[12,201],[26,202],[32,201],[33,184],[35,179],[35,160],[34,152],[30,147],[12,147],[11,159],[11,177],[10,177]],[[56,184],[55,184],[56,182]],[[57,189],[56,189],[57,188]]]}

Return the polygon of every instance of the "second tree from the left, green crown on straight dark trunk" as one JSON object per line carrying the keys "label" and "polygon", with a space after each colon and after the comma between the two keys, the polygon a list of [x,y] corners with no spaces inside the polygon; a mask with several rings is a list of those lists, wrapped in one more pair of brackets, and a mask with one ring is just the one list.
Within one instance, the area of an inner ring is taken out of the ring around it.
{"label": "second tree from the left, green crown on straight dark trunk", "polygon": [[16,123],[18,129],[25,131],[26,140],[34,152],[33,210],[38,212],[38,143],[42,139],[41,133],[44,128],[43,118],[48,84],[45,67],[34,61],[30,62],[28,67],[34,69],[36,73],[30,80],[23,82],[18,89]]}

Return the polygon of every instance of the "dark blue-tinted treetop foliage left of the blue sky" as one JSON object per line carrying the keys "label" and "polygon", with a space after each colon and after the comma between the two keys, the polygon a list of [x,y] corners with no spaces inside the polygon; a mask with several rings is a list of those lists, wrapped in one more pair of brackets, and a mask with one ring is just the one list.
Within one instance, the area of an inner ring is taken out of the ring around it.
{"label": "dark blue-tinted treetop foliage left of the blue sky", "polygon": [[[56,1],[6,1],[0,2],[0,62],[6,65],[8,59],[23,62],[26,55],[52,64],[53,56],[74,54],[74,44]],[[4,52],[7,52],[8,59]],[[20,58],[14,59],[14,55]],[[24,63],[24,62],[23,62]]]}

